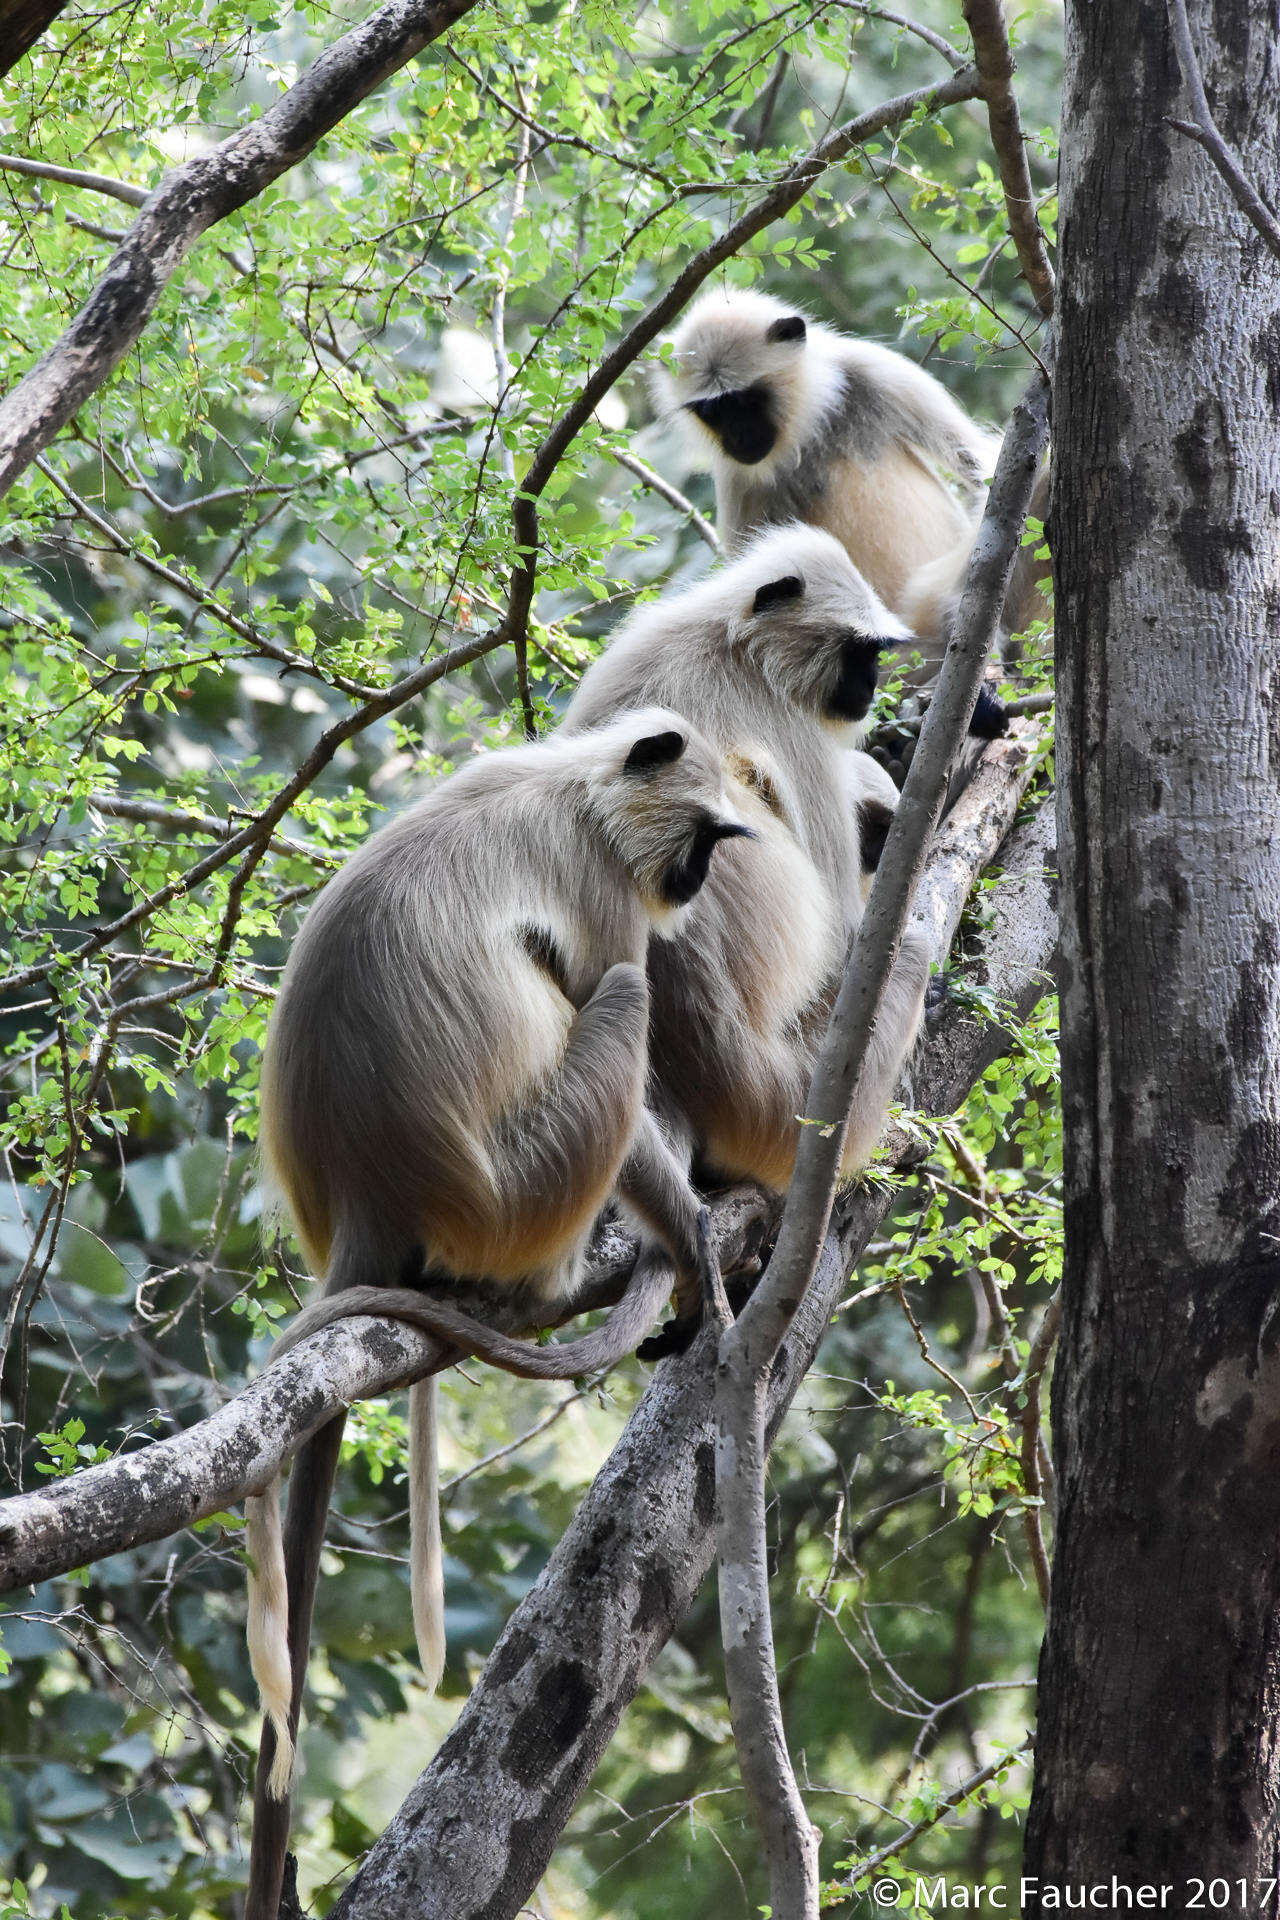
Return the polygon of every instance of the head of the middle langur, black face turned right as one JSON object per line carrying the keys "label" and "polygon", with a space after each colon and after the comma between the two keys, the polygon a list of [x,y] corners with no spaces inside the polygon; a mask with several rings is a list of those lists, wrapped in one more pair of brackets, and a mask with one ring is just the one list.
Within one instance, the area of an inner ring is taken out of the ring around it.
{"label": "head of the middle langur, black face turned right", "polygon": [[758,534],[723,576],[737,611],[729,643],[793,707],[848,745],[865,732],[881,653],[912,630],[871,591],[844,547],[818,526]]}

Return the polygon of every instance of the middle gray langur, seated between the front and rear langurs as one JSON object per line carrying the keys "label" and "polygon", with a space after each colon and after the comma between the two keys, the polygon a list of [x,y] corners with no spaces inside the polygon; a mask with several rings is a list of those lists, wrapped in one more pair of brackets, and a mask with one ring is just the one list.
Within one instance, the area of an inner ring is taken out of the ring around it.
{"label": "middle gray langur, seated between the front and rear langurs", "polygon": [[[691,1160],[723,1177],[791,1181],[816,1048],[864,912],[864,803],[879,808],[879,845],[896,804],[892,781],[850,749],[881,651],[908,637],[831,534],[781,526],[708,580],[637,609],[570,701],[574,733],[652,701],[697,712],[754,833],[716,862],[676,937],[649,950],[651,1102]],[[927,979],[927,941],[912,929],[846,1171],[875,1148]]]}

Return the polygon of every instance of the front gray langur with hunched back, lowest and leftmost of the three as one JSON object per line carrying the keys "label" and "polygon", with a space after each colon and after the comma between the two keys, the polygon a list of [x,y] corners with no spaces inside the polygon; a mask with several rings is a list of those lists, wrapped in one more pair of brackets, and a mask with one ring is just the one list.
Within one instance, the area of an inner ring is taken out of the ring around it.
{"label": "front gray langur with hunched back, lowest and leftmost of the three", "polygon": [[[307,914],[263,1060],[263,1164],[326,1284],[292,1338],[384,1302],[415,1319],[405,1292],[441,1283],[472,1283],[482,1300],[499,1288],[526,1325],[545,1325],[572,1298],[614,1190],[668,1248],[693,1309],[706,1215],[645,1108],[643,968],[651,931],[679,931],[714,849],[747,833],[720,755],[677,714],[645,710],[589,737],[484,755],[359,849]],[[624,1352],[668,1288],[662,1277],[656,1296],[641,1288],[649,1313]],[[583,1365],[593,1340],[578,1342]],[[249,1649],[267,1711],[259,1814],[290,1784],[342,1425],[297,1455],[288,1546],[274,1482],[248,1503]],[[430,1380],[413,1390],[411,1425],[415,1626],[436,1684]],[[274,1914],[263,1893],[274,1862],[255,1868],[251,1910]]]}

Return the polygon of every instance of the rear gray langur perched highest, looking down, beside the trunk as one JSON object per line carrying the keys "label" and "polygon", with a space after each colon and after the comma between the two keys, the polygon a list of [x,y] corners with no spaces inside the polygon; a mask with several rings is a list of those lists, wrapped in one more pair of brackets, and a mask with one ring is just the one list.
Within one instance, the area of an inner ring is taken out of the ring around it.
{"label": "rear gray langur perched highest, looking down, beside the trunk", "polygon": [[[706,294],[672,349],[674,371],[654,374],[658,403],[687,422],[695,459],[710,465],[725,545],[783,520],[827,528],[912,628],[923,666],[908,680],[931,680],[1000,438],[902,353],[768,294]],[[1019,566],[1034,572],[1031,559]],[[1025,601],[1019,578],[1006,618],[1023,616]],[[1004,732],[994,695],[979,697],[971,732]]]}

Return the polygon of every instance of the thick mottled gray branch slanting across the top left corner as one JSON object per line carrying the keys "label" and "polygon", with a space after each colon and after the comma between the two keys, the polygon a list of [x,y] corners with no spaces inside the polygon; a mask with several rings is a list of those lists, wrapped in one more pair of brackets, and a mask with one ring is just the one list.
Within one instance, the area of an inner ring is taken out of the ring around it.
{"label": "thick mottled gray branch slanting across the top left corner", "polygon": [[61,340],[0,405],[0,495],[119,367],[200,236],[317,142],[476,0],[388,0],[307,67],[261,119],[171,173]]}

